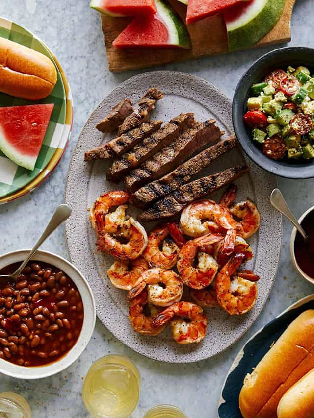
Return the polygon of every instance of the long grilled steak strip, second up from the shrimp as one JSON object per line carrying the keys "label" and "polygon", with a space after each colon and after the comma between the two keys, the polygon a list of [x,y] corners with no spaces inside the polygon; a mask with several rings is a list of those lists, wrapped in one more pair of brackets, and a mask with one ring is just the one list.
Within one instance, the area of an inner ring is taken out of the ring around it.
{"label": "long grilled steak strip, second up from the shrimp", "polygon": [[205,149],[195,157],[190,158],[181,166],[176,168],[173,172],[166,174],[159,180],[153,181],[146,186],[141,187],[137,192],[131,195],[131,203],[134,206],[144,208],[149,204],[155,202],[161,197],[170,195],[183,184],[186,184],[190,179],[201,172],[205,167],[220,157],[220,155],[228,152],[236,145],[236,138],[234,135],[227,139],[218,142],[215,145]]}

